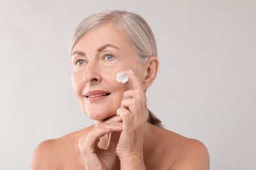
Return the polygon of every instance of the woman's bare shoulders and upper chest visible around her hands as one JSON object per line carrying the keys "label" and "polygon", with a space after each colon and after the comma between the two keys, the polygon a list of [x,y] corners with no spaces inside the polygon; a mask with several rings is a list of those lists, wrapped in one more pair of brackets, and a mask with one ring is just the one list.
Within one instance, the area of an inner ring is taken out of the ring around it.
{"label": "woman's bare shoulders and upper chest visible around her hands", "polygon": [[[161,127],[148,126],[151,133],[145,137],[147,142],[143,150],[146,169],[209,169],[209,154],[200,141]],[[79,137],[88,134],[92,128],[39,144],[32,169],[85,169],[77,143]],[[106,138],[98,144],[101,148],[106,148]],[[120,169],[118,158],[116,169]]]}

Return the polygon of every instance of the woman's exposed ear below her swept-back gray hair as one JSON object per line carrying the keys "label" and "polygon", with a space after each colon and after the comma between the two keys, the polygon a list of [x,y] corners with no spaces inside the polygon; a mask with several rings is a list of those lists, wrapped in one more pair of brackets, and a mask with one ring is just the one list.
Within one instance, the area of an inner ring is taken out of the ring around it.
{"label": "woman's exposed ear below her swept-back gray hair", "polygon": [[158,58],[152,56],[148,58],[146,65],[144,67],[145,75],[142,82],[143,88],[146,90],[155,80],[158,73],[159,61]]}

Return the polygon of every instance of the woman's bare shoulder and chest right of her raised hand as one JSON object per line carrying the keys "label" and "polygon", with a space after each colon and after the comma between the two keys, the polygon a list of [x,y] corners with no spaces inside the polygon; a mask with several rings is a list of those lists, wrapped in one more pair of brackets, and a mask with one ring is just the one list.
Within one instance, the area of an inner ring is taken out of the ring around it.
{"label": "woman's bare shoulder and chest right of her raised hand", "polygon": [[[152,133],[155,134],[155,140],[148,140],[150,141],[148,143],[149,148],[157,147],[154,150],[156,157],[150,161],[157,160],[154,164],[160,167],[158,169],[209,169],[209,153],[202,142],[196,139],[188,139],[161,127],[152,126]],[[161,158],[161,160],[158,158]]]}

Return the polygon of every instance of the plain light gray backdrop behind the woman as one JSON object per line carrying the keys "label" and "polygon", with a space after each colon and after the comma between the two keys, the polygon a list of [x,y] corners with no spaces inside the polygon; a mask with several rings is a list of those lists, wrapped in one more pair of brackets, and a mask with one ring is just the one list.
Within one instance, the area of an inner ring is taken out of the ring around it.
{"label": "plain light gray backdrop behind the woman", "polygon": [[41,141],[93,124],[70,84],[68,42],[101,10],[137,12],[158,42],[148,106],[205,143],[211,169],[256,169],[255,1],[0,1],[0,169],[29,169]]}

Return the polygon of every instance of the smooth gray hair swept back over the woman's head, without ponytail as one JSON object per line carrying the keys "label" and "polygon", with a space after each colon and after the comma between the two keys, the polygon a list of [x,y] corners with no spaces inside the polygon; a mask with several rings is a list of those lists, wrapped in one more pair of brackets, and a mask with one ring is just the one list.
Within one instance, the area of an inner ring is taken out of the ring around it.
{"label": "smooth gray hair swept back over the woman's head, without ponytail", "polygon": [[157,56],[156,40],[144,18],[122,10],[103,11],[85,18],[72,35],[70,54],[83,35],[97,26],[106,24],[112,24],[124,33],[142,63],[145,63],[150,56]]}

